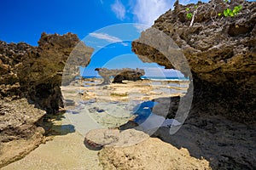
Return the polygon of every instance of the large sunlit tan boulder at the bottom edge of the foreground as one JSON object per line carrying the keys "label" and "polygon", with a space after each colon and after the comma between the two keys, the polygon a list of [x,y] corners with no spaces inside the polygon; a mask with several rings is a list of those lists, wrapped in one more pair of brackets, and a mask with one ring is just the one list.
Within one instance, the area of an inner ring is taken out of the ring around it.
{"label": "large sunlit tan boulder at the bottom edge of the foreground", "polygon": [[212,169],[203,158],[195,159],[188,150],[154,138],[126,147],[104,147],[99,158],[103,169]]}

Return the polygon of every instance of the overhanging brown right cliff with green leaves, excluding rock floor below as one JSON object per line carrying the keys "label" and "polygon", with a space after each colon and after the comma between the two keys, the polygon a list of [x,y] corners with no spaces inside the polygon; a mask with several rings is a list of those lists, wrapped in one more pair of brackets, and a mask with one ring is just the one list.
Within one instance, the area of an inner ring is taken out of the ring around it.
{"label": "overhanging brown right cliff with green leaves, excluding rock floor below", "polygon": [[[238,14],[224,17],[226,8],[233,9],[238,5],[242,6]],[[195,20],[189,26],[191,20],[186,15],[194,14],[195,10]],[[238,122],[256,122],[255,23],[255,2],[224,3],[217,0],[196,6],[183,6],[177,2],[174,10],[167,11],[155,20],[153,28],[172,37],[189,63],[194,83],[194,109]],[[140,39],[155,41],[152,37],[148,29]],[[182,67],[172,65],[164,54],[143,44],[140,39],[132,42],[132,50],[140,59],[156,62],[166,68],[175,67],[186,75]]]}

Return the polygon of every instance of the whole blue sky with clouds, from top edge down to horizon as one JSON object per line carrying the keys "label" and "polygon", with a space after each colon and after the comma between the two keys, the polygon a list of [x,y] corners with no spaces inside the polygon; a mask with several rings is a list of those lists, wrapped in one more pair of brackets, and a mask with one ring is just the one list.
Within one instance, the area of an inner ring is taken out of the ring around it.
{"label": "whole blue sky with clouds, from top edge down to horizon", "polygon": [[[154,20],[172,8],[174,2],[173,0],[2,0],[0,40],[27,42],[37,46],[43,31],[58,34],[73,32],[81,40],[83,39],[86,45],[95,48],[88,66],[90,70],[98,66],[152,67],[152,71],[161,69],[163,72],[159,65],[143,64],[135,54],[132,54],[131,41],[139,37],[142,30],[140,26],[143,28],[152,26]],[[179,2],[185,4],[195,1],[179,0]],[[143,25],[125,26],[124,23]],[[111,27],[113,25],[115,26]]]}

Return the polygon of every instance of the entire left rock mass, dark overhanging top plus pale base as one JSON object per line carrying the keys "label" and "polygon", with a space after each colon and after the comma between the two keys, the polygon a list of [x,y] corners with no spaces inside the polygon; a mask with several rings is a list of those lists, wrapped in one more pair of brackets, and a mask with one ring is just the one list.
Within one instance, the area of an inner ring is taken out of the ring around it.
{"label": "entire left rock mass, dark overhanging top plus pale base", "polygon": [[[63,106],[61,76],[68,57],[76,55],[84,65],[90,62],[93,49],[84,43],[75,48],[78,43],[79,37],[72,33],[63,36],[43,33],[38,47],[25,42],[0,42],[0,157],[3,158],[0,167],[42,142],[44,129],[38,131],[36,124],[45,112],[55,114]],[[74,63],[74,67],[76,60],[72,59],[69,63]],[[75,71],[70,71],[70,79],[76,77]],[[40,138],[33,138],[35,135]],[[7,146],[18,141],[23,141],[15,149],[19,152],[5,152]]]}

